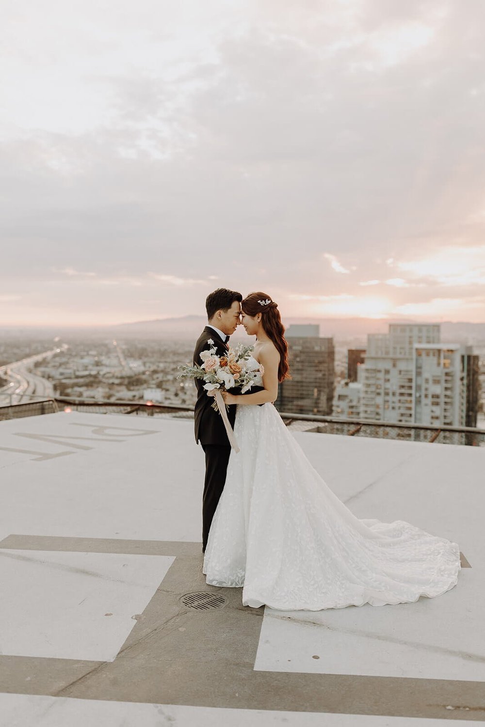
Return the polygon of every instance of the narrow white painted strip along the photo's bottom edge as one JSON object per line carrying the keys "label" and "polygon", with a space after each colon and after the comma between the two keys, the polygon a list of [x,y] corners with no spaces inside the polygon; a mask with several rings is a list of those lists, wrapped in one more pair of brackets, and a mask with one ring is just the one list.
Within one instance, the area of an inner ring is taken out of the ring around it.
{"label": "narrow white painted strip along the photo's bottom edge", "polygon": [[[449,727],[449,720],[0,695],[0,727]],[[453,725],[470,725],[453,720]]]}

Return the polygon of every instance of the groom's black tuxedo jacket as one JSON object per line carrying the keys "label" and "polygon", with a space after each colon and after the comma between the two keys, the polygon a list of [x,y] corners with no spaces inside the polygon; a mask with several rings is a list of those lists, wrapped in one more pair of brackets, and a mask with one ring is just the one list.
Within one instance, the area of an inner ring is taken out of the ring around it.
{"label": "groom's black tuxedo jacket", "polygon": [[[214,341],[215,350],[217,356],[224,356],[228,350],[225,342],[220,338],[219,334],[215,332],[210,326],[206,326],[199,336],[199,340],[196,342],[196,348],[193,350],[193,363],[201,366],[202,359],[199,356],[201,351],[209,350],[211,345],[208,341],[212,339]],[[202,379],[195,379],[197,387],[197,401],[193,409],[193,417],[195,423],[195,435],[196,442],[201,444],[220,444],[231,446],[228,440],[228,435],[225,431],[223,417],[218,411],[212,409],[212,403],[214,398],[207,396],[207,391],[204,389],[204,381]],[[234,420],[236,419],[236,405],[231,404],[228,411],[228,419],[231,422],[231,427],[234,428]]]}

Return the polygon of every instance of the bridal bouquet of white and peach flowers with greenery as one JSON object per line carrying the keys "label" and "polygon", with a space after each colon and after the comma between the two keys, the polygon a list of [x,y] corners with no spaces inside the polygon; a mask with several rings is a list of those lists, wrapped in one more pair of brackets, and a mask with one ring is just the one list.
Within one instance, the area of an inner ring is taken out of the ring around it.
{"label": "bridal bouquet of white and peach flowers with greenery", "polygon": [[[213,344],[209,338],[209,343]],[[249,361],[251,358],[253,347],[238,344],[236,348],[229,346],[228,352],[224,356],[217,356],[216,348],[212,345],[209,350],[201,351],[200,357],[202,363],[200,366],[196,364],[182,364],[178,368],[181,369],[177,379],[203,379],[204,389],[209,391],[219,390],[227,391],[228,389],[241,389],[241,394],[246,393],[254,384],[257,374],[264,374],[262,365],[257,361]],[[221,397],[222,398],[222,397]],[[219,397],[215,398],[212,407],[219,411]],[[227,408],[227,405],[226,405]]]}

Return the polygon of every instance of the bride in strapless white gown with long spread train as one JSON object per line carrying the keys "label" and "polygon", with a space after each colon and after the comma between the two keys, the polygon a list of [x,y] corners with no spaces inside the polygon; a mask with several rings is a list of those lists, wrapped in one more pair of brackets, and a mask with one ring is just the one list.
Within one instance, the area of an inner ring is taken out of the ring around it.
{"label": "bride in strapless white gown with long spread train", "polygon": [[223,394],[238,405],[241,451],[231,451],[209,531],[207,583],[242,587],[244,606],[289,611],[408,603],[454,587],[456,543],[401,520],[359,520],[318,475],[273,406],[289,377],[278,306],[257,292],[241,308],[262,390]]}

